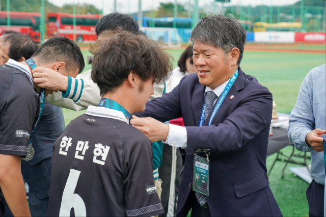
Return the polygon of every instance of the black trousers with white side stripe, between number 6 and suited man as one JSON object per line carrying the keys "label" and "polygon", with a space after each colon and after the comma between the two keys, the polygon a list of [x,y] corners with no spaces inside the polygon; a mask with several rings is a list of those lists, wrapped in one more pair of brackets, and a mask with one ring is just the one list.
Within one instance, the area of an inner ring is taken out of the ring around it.
{"label": "black trousers with white side stripe, between number 6 and suited man", "polygon": [[179,149],[168,144],[164,145],[163,163],[158,168],[159,177],[162,179],[161,203],[164,213],[159,217],[176,215],[181,168],[182,157]]}

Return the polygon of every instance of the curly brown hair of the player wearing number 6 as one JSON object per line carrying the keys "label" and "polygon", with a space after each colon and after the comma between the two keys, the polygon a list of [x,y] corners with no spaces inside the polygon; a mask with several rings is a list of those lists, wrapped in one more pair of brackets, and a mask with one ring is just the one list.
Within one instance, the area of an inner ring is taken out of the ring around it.
{"label": "curly brown hair of the player wearing number 6", "polygon": [[155,78],[156,83],[161,83],[168,79],[173,69],[172,56],[157,42],[125,31],[112,33],[112,38],[101,41],[99,49],[92,47],[95,55],[91,77],[101,96],[119,87],[131,71],[142,81]]}

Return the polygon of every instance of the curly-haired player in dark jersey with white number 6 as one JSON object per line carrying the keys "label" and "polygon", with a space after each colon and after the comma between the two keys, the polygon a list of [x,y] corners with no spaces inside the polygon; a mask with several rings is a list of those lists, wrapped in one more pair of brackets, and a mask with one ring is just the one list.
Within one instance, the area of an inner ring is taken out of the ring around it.
{"label": "curly-haired player in dark jersey with white number 6", "polygon": [[92,69],[102,99],[55,142],[48,216],[163,212],[151,142],[132,129],[129,118],[144,111],[154,82],[164,81],[171,69],[170,56],[145,36],[121,32],[102,43]]}

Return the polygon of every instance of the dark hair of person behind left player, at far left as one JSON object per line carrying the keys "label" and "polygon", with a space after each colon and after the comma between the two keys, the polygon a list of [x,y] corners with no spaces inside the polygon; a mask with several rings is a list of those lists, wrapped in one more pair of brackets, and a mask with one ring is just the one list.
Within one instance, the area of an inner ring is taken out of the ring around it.
{"label": "dark hair of person behind left player, at far left", "polygon": [[37,49],[38,46],[36,42],[34,42],[30,36],[20,34],[13,37],[13,41],[9,47],[8,56],[16,61],[21,57],[29,59]]}

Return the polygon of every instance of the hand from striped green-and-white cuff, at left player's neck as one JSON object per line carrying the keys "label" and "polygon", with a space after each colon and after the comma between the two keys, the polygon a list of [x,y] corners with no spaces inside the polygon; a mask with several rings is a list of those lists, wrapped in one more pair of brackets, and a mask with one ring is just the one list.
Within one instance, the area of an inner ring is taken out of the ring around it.
{"label": "hand from striped green-and-white cuff, at left player's neck", "polygon": [[39,87],[43,87],[49,90],[62,90],[67,91],[68,77],[56,72],[55,70],[36,67],[33,69],[33,81],[37,83]]}

